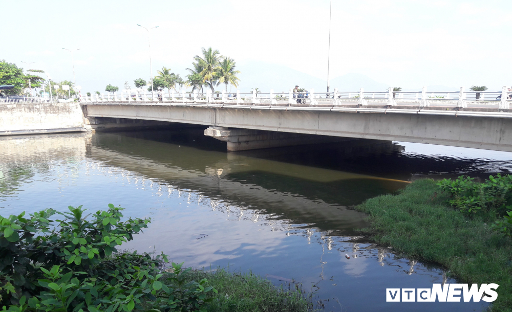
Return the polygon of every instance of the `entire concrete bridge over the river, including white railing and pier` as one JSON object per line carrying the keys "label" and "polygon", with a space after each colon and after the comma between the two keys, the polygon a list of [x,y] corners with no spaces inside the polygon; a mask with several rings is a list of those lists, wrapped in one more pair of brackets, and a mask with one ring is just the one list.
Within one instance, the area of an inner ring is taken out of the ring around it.
{"label": "entire concrete bridge over the river, including white railing and pier", "polygon": [[[81,105],[91,123],[94,118],[111,117],[207,125],[205,135],[226,141],[228,150],[345,137],[512,151],[506,88],[478,95],[463,88],[458,94],[361,89],[354,95],[337,91],[327,97],[312,92],[214,95],[208,90],[201,96],[182,92],[84,98]],[[502,99],[496,101],[497,95]]]}

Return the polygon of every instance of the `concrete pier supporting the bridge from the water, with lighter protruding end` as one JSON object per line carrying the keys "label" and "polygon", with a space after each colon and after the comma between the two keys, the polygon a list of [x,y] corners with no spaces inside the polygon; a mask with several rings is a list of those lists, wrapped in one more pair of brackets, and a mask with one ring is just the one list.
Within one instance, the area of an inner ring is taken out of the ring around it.
{"label": "concrete pier supporting the bridge from the water, with lighter protruding end", "polygon": [[358,140],[304,133],[226,127],[208,127],[204,129],[204,135],[226,142],[228,151]]}

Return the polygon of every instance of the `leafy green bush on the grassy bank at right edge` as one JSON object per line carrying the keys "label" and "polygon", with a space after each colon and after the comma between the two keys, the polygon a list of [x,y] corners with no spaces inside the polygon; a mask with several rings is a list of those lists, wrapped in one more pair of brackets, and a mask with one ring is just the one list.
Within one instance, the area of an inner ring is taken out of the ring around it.
{"label": "leafy green bush on the grassy bank at right edge", "polygon": [[512,175],[489,175],[483,183],[461,175],[454,181],[444,179],[438,185],[452,194],[449,203],[466,215],[494,210],[502,216],[512,204]]}

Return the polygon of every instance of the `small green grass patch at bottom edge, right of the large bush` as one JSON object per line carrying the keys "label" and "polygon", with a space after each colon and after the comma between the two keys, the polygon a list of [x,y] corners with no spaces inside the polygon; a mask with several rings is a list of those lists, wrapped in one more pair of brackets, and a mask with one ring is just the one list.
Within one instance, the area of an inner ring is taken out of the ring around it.
{"label": "small green grass patch at bottom edge, right of the large bush", "polygon": [[300,286],[275,287],[270,281],[252,273],[193,270],[187,277],[199,281],[207,278],[218,294],[208,311],[312,311],[311,296]]}

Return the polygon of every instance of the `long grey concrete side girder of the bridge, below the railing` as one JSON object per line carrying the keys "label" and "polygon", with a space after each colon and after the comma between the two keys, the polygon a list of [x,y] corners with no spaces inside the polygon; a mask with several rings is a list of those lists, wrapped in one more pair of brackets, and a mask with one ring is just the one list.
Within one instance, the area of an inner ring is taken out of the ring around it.
{"label": "long grey concrete side girder of the bridge, below the railing", "polygon": [[157,120],[221,129],[255,129],[512,151],[512,119],[507,118],[212,108],[170,104],[83,106],[87,117]]}

